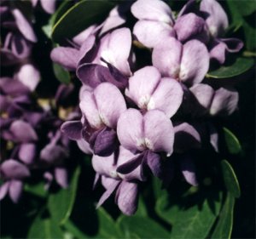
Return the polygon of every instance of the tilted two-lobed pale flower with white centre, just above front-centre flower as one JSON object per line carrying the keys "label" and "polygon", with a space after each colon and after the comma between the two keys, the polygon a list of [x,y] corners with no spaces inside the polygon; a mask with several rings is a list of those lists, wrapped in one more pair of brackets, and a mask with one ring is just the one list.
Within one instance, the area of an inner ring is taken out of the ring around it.
{"label": "tilted two-lobed pale flower with white centre, just above front-centre flower", "polygon": [[183,89],[172,78],[161,78],[154,66],[146,66],[134,73],[125,90],[142,111],[160,110],[172,117],[183,100]]}

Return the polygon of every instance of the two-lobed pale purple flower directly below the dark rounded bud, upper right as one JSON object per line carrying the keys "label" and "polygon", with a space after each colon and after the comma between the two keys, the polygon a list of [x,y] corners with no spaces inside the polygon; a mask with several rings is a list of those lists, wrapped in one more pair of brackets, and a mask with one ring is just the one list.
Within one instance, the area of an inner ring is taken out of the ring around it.
{"label": "two-lobed pale purple flower directly below the dark rounded bud, upper right", "polygon": [[209,68],[209,54],[203,43],[191,40],[182,44],[173,37],[154,48],[152,61],[162,76],[189,85],[201,83]]}

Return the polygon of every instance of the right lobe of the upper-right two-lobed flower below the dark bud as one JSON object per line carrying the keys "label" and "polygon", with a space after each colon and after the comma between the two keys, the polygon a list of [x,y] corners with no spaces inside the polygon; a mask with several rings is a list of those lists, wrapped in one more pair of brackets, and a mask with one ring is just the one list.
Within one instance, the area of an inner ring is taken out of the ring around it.
{"label": "right lobe of the upper-right two-lobed flower below the dark bud", "polygon": [[191,85],[201,83],[209,69],[210,57],[206,46],[191,40],[183,45],[183,56],[180,65],[179,78]]}

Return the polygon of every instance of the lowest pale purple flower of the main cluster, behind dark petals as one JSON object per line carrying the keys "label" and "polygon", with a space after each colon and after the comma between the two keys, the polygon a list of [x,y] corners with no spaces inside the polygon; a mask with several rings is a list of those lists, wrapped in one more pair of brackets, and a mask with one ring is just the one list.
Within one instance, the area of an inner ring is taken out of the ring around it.
{"label": "lowest pale purple flower of the main cluster, behind dark petals", "polygon": [[137,211],[137,180],[143,180],[140,167],[130,174],[119,174],[117,172],[120,164],[130,161],[135,156],[131,151],[127,151],[120,146],[119,151],[115,151],[111,156],[92,157],[92,166],[96,171],[96,181],[101,179],[102,185],[106,189],[97,204],[97,208],[113,194],[113,191],[116,191],[115,202],[123,213],[131,215]]}

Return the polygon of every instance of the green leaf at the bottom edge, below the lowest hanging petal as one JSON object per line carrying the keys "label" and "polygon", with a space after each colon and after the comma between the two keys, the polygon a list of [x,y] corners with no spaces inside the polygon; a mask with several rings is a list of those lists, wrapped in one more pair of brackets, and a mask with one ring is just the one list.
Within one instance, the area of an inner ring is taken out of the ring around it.
{"label": "green leaf at the bottom edge, below the lowest hanging petal", "polygon": [[[121,216],[118,219],[119,228],[124,231],[123,237],[134,238],[169,238],[169,232],[153,219],[140,216]],[[134,236],[133,236],[134,235]]]}

